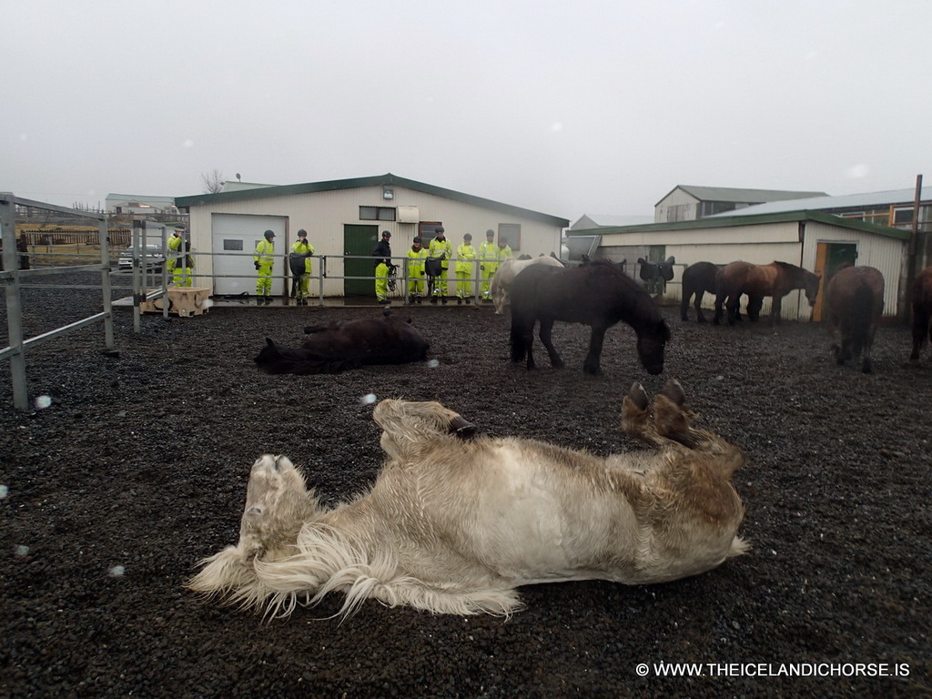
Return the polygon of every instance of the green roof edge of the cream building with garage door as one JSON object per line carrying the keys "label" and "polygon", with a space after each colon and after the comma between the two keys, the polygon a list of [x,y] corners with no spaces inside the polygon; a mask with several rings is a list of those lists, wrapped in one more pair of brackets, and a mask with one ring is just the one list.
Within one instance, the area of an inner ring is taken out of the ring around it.
{"label": "green roof edge of the cream building with garage door", "polygon": [[468,204],[483,206],[487,209],[494,209],[500,212],[514,213],[525,216],[544,223],[553,224],[566,228],[569,226],[569,219],[551,216],[547,213],[535,212],[530,209],[523,209],[519,206],[504,204],[493,199],[484,199],[474,197],[471,194],[464,194],[454,189],[445,189],[436,185],[427,185],[423,182],[408,180],[404,177],[391,174],[388,172],[384,175],[375,175],[373,177],[354,177],[345,180],[327,180],[325,182],[308,182],[303,185],[274,185],[266,187],[256,187],[254,189],[242,189],[236,192],[219,192],[217,194],[199,194],[190,197],[176,197],[175,206],[179,209],[189,208],[192,206],[203,206],[205,204],[223,203],[225,201],[242,201],[244,199],[268,199],[269,197],[291,197],[297,194],[311,194],[314,192],[330,192],[337,189],[354,189],[357,187],[395,185],[404,186],[408,189],[414,189],[424,194],[432,194],[445,199],[454,199]]}

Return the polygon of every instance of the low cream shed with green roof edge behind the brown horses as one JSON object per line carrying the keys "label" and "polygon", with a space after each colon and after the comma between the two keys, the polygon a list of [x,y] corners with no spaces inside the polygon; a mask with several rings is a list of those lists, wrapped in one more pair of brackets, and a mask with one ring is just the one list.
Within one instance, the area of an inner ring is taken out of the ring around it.
{"label": "low cream shed with green roof edge behind the brown horses", "polygon": [[[884,315],[895,316],[904,303],[907,247],[910,233],[873,226],[829,213],[798,211],[570,231],[569,236],[601,236],[600,257],[628,267],[638,257],[661,260],[676,257],[675,276],[667,285],[665,300],[678,302],[682,271],[696,262],[727,264],[745,260],[766,265],[774,260],[799,265],[822,275],[812,320],[822,320],[822,298],[832,274],[845,263],[877,267],[884,275]],[[706,295],[704,306],[714,299]],[[770,299],[764,302],[770,312]],[[810,308],[802,292],[790,292],[783,302],[784,318],[809,320]]]}

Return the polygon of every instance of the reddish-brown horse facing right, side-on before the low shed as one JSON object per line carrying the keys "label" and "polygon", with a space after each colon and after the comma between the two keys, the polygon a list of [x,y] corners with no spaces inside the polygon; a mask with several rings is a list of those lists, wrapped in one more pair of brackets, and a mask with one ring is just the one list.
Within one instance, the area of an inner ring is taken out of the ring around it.
{"label": "reddish-brown horse facing right, side-on before the low shed", "polygon": [[720,269],[715,281],[715,318],[712,322],[716,325],[721,321],[721,306],[726,299],[728,322],[734,324],[742,294],[747,294],[747,316],[751,322],[757,322],[761,317],[763,297],[772,296],[770,322],[774,324],[780,322],[783,297],[794,289],[804,290],[809,305],[815,306],[822,278],[788,262],[772,262],[769,265],[732,262]]}

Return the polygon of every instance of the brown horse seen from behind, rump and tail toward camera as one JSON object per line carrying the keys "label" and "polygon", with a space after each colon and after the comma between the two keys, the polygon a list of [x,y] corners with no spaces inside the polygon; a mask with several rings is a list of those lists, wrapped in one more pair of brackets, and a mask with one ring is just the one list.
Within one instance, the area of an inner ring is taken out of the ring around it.
{"label": "brown horse seen from behind, rump and tail toward camera", "polygon": [[[843,267],[825,290],[829,336],[835,359],[843,364],[864,354],[861,371],[870,373],[870,347],[884,312],[884,275],[874,267]],[[841,331],[842,343],[835,342]]]}

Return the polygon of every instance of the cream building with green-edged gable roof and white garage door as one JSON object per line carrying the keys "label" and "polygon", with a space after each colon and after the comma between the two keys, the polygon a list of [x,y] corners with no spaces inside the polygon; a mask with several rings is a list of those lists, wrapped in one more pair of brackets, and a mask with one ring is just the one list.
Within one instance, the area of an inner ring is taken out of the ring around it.
{"label": "cream building with green-edged gable roof and white garage door", "polygon": [[[463,234],[473,245],[507,240],[514,255],[557,253],[569,220],[492,199],[388,173],[374,177],[237,188],[217,194],[178,197],[175,204],[190,214],[191,244],[197,257],[196,283],[212,286],[214,295],[254,293],[253,252],[263,233],[276,234],[276,254],[287,254],[297,231],[322,260],[314,260],[314,276],[323,266],[324,295],[371,295],[372,250],[381,231],[391,233],[396,264],[419,236],[425,246],[443,226],[454,250]],[[276,261],[273,294],[285,292],[285,260]],[[281,277],[278,270],[281,268]],[[200,277],[199,275],[212,275]],[[313,283],[313,282],[312,282]],[[313,291],[312,291],[313,293]]]}

